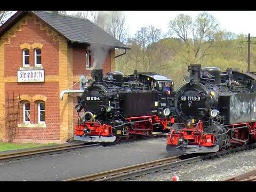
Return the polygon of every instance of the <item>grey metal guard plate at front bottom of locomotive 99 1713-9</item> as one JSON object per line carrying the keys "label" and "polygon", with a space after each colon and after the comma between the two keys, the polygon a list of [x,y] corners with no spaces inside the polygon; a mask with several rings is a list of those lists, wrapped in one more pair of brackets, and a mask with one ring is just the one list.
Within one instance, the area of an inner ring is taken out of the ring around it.
{"label": "grey metal guard plate at front bottom of locomotive 99 1713-9", "polygon": [[219,146],[205,147],[205,146],[196,146],[196,145],[181,145],[181,146],[173,146],[166,145],[167,151],[179,151],[183,153],[214,153],[219,150]]}

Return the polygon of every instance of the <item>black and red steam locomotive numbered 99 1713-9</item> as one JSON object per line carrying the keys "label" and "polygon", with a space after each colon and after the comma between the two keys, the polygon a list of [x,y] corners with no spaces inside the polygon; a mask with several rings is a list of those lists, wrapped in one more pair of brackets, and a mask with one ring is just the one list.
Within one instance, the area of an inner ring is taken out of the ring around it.
{"label": "black and red steam locomotive numbered 99 1713-9", "polygon": [[256,74],[228,68],[188,66],[190,75],[175,92],[178,116],[167,151],[212,153],[256,139]]}

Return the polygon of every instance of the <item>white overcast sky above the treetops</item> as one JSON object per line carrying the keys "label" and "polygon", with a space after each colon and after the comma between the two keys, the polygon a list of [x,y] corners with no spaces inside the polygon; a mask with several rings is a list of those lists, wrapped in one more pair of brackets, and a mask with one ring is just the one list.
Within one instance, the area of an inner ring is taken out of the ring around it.
{"label": "white overcast sky above the treetops", "polygon": [[[203,11],[123,11],[132,35],[141,27],[153,25],[167,32],[167,24],[180,13],[190,15],[193,20]],[[235,34],[256,36],[256,11],[207,11],[220,22],[220,27]]]}

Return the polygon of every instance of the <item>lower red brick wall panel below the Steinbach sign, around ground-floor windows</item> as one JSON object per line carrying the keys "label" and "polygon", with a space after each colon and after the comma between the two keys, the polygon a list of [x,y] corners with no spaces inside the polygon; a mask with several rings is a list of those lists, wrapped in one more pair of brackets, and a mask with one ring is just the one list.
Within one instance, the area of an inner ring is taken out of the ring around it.
{"label": "lower red brick wall panel below the Steinbach sign, around ground-floor windows", "polygon": [[[42,94],[47,97],[45,101],[45,123],[46,128],[18,128],[15,139],[49,139],[59,140],[60,137],[60,115],[59,115],[59,83],[45,82],[45,83],[6,83],[5,97],[7,99],[7,92],[9,98],[12,97],[14,91],[14,98],[17,98],[19,93],[33,97],[37,94]],[[37,102],[30,102],[30,123],[38,123],[38,108]],[[7,102],[5,102],[7,106]],[[7,114],[7,108],[5,110]],[[18,115],[18,123],[23,123],[23,101],[20,102],[20,113]]]}

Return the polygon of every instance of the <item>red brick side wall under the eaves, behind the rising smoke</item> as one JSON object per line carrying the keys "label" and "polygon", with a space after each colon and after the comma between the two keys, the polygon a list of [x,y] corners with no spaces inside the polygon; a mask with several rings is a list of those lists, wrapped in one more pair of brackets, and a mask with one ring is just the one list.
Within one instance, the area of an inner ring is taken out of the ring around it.
{"label": "red brick side wall under the eaves, behind the rising smoke", "polygon": [[[91,77],[91,70],[86,70],[86,48],[73,47],[73,74],[86,75]],[[107,74],[110,71],[110,51],[103,63],[103,73]]]}

